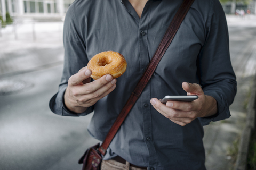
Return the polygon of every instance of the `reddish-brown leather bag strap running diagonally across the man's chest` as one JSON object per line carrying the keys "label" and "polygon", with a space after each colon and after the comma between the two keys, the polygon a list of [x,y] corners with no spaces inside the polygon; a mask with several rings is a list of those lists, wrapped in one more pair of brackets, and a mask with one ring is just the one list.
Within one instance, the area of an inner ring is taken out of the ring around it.
{"label": "reddish-brown leather bag strap running diagonally across the man's chest", "polygon": [[102,155],[106,154],[106,150],[112,141],[112,139],[115,137],[116,132],[118,131],[119,127],[125,120],[125,117],[130,112],[131,108],[139,98],[142,90],[146,87],[148,81],[150,80],[151,76],[153,75],[159,61],[163,57],[166,49],[171,44],[171,41],[175,35],[175,33],[178,31],[181,22],[185,18],[190,6],[193,4],[194,0],[184,0],[178,10],[178,12],[175,14],[172,22],[170,23],[167,31],[165,32],[165,35],[159,44],[153,58],[151,59],[149,65],[147,66],[146,71],[143,73],[142,77],[140,78],[137,86],[135,87],[134,91],[132,92],[130,98],[127,100],[124,108],[122,109],[121,113],[118,115],[116,121],[111,126],[111,129],[109,130],[107,137],[102,142],[101,146],[99,147],[99,151]]}

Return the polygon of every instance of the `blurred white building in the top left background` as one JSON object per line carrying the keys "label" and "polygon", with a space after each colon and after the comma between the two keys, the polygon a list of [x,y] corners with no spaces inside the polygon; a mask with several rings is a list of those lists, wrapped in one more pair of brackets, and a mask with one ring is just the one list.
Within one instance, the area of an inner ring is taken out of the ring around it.
{"label": "blurred white building in the top left background", "polygon": [[61,20],[74,0],[0,0],[0,15],[14,19]]}

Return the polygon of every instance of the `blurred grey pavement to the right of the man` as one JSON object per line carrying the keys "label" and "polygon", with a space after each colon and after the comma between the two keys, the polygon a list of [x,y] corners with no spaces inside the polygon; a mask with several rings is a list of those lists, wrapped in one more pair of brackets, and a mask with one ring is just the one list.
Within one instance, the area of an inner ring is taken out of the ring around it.
{"label": "blurred grey pavement to the right of the man", "polygon": [[228,120],[212,122],[205,126],[204,145],[207,169],[233,169],[227,150],[233,141],[239,139],[246,118],[246,98],[250,94],[250,85],[256,69],[256,18],[237,18],[227,16],[230,55],[237,75],[237,95],[230,106],[231,117]]}

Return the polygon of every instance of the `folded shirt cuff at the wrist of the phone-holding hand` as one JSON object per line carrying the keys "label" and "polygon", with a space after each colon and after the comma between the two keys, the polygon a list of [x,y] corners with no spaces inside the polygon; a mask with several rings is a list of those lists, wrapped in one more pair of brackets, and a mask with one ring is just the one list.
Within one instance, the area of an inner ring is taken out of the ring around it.
{"label": "folded shirt cuff at the wrist of the phone-holding hand", "polygon": [[202,126],[208,125],[211,121],[220,121],[230,117],[229,105],[223,98],[222,94],[217,92],[204,92],[207,96],[212,96],[217,101],[218,112],[217,114],[209,117],[198,117]]}

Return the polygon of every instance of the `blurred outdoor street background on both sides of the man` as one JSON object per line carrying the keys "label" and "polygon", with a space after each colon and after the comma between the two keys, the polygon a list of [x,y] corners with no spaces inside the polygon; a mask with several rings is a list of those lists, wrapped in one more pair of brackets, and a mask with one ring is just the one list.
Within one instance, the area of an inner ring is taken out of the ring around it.
{"label": "blurred outdoor street background on both sides of the man", "polygon": [[[86,130],[92,114],[58,116],[48,106],[60,83],[63,20],[72,2],[0,0],[1,170],[81,169],[78,159],[97,142]],[[204,127],[206,167],[218,170],[235,167],[256,71],[256,0],[221,3],[238,92],[232,116]]]}

